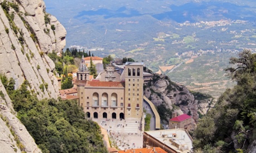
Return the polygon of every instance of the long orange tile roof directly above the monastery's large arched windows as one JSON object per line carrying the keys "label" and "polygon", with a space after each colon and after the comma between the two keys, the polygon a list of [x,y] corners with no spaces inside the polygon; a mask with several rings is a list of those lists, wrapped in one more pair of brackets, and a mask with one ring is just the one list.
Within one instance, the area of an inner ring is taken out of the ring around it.
{"label": "long orange tile roof directly above the monastery's large arched windows", "polygon": [[114,81],[88,81],[86,86],[124,88],[125,84],[121,82],[114,82]]}

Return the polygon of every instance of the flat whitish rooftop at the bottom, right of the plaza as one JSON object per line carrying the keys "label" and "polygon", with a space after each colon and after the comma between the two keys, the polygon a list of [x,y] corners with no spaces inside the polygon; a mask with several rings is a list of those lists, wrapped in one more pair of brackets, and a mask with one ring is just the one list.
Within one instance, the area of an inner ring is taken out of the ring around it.
{"label": "flat whitish rooftop at the bottom, right of the plaza", "polygon": [[185,129],[145,131],[144,133],[154,137],[177,152],[188,152],[192,148],[193,139]]}

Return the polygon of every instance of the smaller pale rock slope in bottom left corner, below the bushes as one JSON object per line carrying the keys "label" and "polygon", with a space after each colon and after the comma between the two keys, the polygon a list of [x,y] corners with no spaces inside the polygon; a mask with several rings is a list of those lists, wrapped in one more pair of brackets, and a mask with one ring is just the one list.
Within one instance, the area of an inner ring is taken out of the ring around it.
{"label": "smaller pale rock slope in bottom left corner, below the bushes", "polygon": [[26,127],[19,121],[0,80],[0,152],[41,152]]}

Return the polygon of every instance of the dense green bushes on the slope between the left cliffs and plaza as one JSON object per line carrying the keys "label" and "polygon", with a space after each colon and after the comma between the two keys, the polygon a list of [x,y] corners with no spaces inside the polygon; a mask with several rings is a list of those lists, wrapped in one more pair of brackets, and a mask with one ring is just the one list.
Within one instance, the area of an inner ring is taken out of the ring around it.
{"label": "dense green bushes on the slope between the left cliffs and plaza", "polygon": [[76,101],[38,100],[36,93],[27,90],[28,81],[14,90],[13,79],[0,77],[18,112],[18,119],[42,152],[107,152],[99,125],[85,119]]}

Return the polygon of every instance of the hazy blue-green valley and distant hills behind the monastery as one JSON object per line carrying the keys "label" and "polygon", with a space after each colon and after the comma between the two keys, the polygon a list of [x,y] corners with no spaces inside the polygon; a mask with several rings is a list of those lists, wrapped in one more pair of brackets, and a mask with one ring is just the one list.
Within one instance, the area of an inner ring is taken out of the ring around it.
{"label": "hazy blue-green valley and distant hills behind the monastery", "polygon": [[143,60],[153,72],[214,96],[232,86],[223,72],[228,59],[256,48],[254,1],[45,2],[67,29],[66,47]]}

